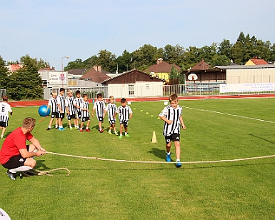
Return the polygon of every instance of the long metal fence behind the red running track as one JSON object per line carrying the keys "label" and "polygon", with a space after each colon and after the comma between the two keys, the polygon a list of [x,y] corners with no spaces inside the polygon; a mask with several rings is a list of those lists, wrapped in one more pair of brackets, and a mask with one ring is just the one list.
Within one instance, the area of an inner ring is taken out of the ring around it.
{"label": "long metal fence behind the red running track", "polygon": [[[261,91],[261,92],[234,92],[234,93],[220,93],[219,91],[220,84],[176,84],[176,85],[163,85],[159,89],[162,89],[162,95],[164,97],[169,96],[170,94],[177,94],[178,96],[219,96],[219,95],[241,95],[241,94],[275,94],[275,91]],[[135,89],[131,90],[129,97],[139,98],[139,97],[154,97],[153,94],[140,93],[139,91],[146,89],[144,86],[134,86]],[[64,89],[70,89],[75,94],[76,90],[81,91],[81,94],[87,94],[88,99],[96,99],[96,95],[101,93],[104,96],[104,99],[108,99],[110,95],[119,94],[121,91],[121,86],[112,86],[112,91],[114,94],[109,94],[108,86],[96,86],[96,87],[66,87]],[[59,88],[45,88],[44,89],[44,99],[49,99],[51,93],[56,91],[59,93]],[[133,91],[136,91],[136,94],[133,94]],[[116,96],[117,98],[122,98]],[[127,98],[127,97],[125,97]]]}

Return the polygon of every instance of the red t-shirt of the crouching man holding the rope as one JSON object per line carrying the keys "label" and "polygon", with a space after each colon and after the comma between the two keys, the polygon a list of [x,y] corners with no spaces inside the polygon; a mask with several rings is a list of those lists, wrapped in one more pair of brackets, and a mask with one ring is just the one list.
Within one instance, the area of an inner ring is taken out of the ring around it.
{"label": "red t-shirt of the crouching man holding the rope", "polygon": [[23,134],[23,131],[20,128],[15,129],[14,131],[6,137],[1,151],[0,151],[0,163],[5,164],[11,156],[16,156],[20,154],[20,149],[26,149],[26,140],[31,140],[34,136],[28,132]]}

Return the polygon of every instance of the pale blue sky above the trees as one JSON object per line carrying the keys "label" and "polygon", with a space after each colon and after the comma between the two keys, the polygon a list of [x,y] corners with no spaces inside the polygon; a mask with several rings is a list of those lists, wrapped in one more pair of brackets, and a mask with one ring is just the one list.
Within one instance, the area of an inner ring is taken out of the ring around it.
{"label": "pale blue sky above the trees", "polygon": [[241,31],[274,44],[274,18],[273,0],[0,0],[0,56],[61,70],[101,50],[234,44]]}

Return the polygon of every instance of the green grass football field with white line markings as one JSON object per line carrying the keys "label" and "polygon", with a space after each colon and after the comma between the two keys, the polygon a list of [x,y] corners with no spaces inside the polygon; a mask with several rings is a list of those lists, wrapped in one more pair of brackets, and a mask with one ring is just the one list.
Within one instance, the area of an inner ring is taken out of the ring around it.
{"label": "green grass football field with white line markings", "polygon": [[[244,159],[275,154],[275,99],[180,101],[181,161]],[[47,150],[106,159],[164,161],[164,101],[132,102],[130,138],[97,131],[46,131],[38,107],[14,108],[6,135],[26,116]],[[143,110],[143,111],[141,111]],[[149,114],[146,114],[148,112]],[[64,120],[64,126],[67,121]],[[109,122],[104,121],[104,127]],[[116,124],[119,130],[119,123]],[[158,143],[151,144],[153,131]],[[3,140],[1,140],[1,143]],[[171,159],[175,159],[174,146]],[[0,167],[0,207],[11,219],[275,219],[275,158],[209,164],[140,164],[46,154],[36,169],[53,176],[12,181]]]}

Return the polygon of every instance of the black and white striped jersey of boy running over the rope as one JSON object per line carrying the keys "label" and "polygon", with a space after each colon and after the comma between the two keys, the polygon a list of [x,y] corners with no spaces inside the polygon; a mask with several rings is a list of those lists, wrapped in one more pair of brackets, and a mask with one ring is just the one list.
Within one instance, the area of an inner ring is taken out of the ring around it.
{"label": "black and white striped jersey of boy running over the rope", "polygon": [[165,116],[166,119],[173,121],[171,124],[164,122],[164,136],[170,136],[171,134],[180,134],[181,131],[181,121],[179,121],[182,115],[182,107],[177,106],[174,109],[171,105],[166,106],[164,110],[159,114],[160,117]]}

